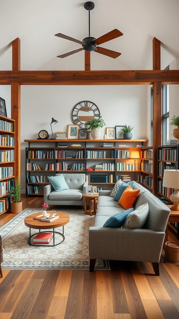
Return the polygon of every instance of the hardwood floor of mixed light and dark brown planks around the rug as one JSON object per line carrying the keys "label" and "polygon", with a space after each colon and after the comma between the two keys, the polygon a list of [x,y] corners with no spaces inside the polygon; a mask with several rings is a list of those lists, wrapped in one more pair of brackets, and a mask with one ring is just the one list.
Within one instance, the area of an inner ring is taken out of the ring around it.
{"label": "hardwood floor of mixed light and dark brown planks around the rug", "polygon": [[[43,197],[23,195],[23,209]],[[53,207],[50,207],[53,208]],[[0,226],[13,218],[0,216]],[[169,241],[176,236],[169,232]],[[111,271],[3,270],[1,319],[178,319],[179,263],[111,261]]]}

